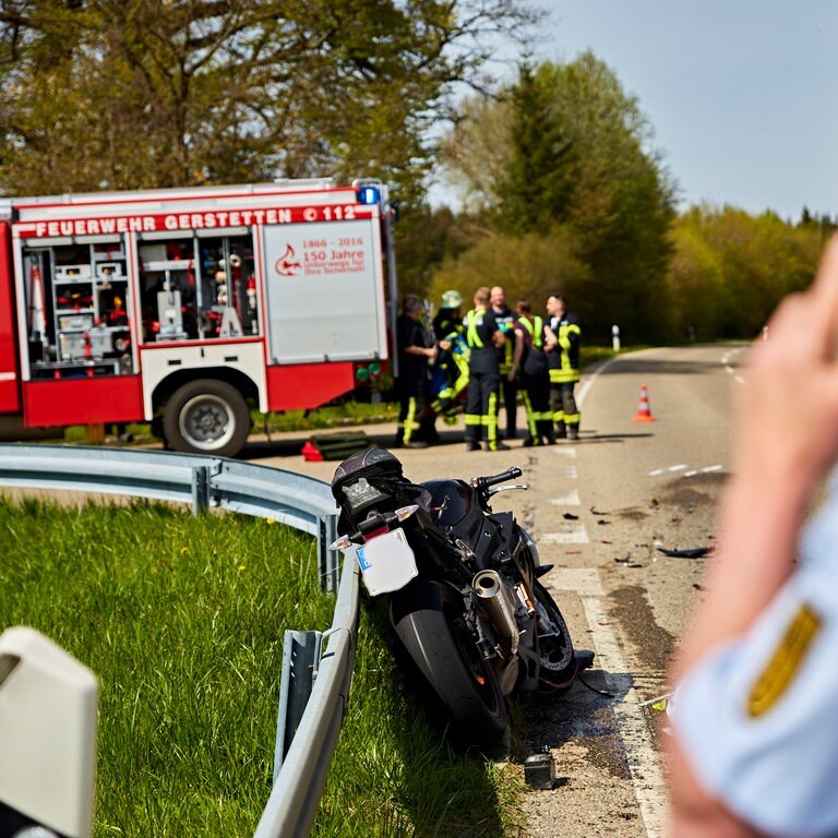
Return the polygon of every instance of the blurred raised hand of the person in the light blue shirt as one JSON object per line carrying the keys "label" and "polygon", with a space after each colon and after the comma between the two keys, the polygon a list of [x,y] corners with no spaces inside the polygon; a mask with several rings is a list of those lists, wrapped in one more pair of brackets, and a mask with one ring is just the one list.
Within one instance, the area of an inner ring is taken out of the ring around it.
{"label": "blurred raised hand of the person in the light blue shirt", "polygon": [[838,459],[838,237],[771,316],[737,393],[739,474],[807,492]]}

